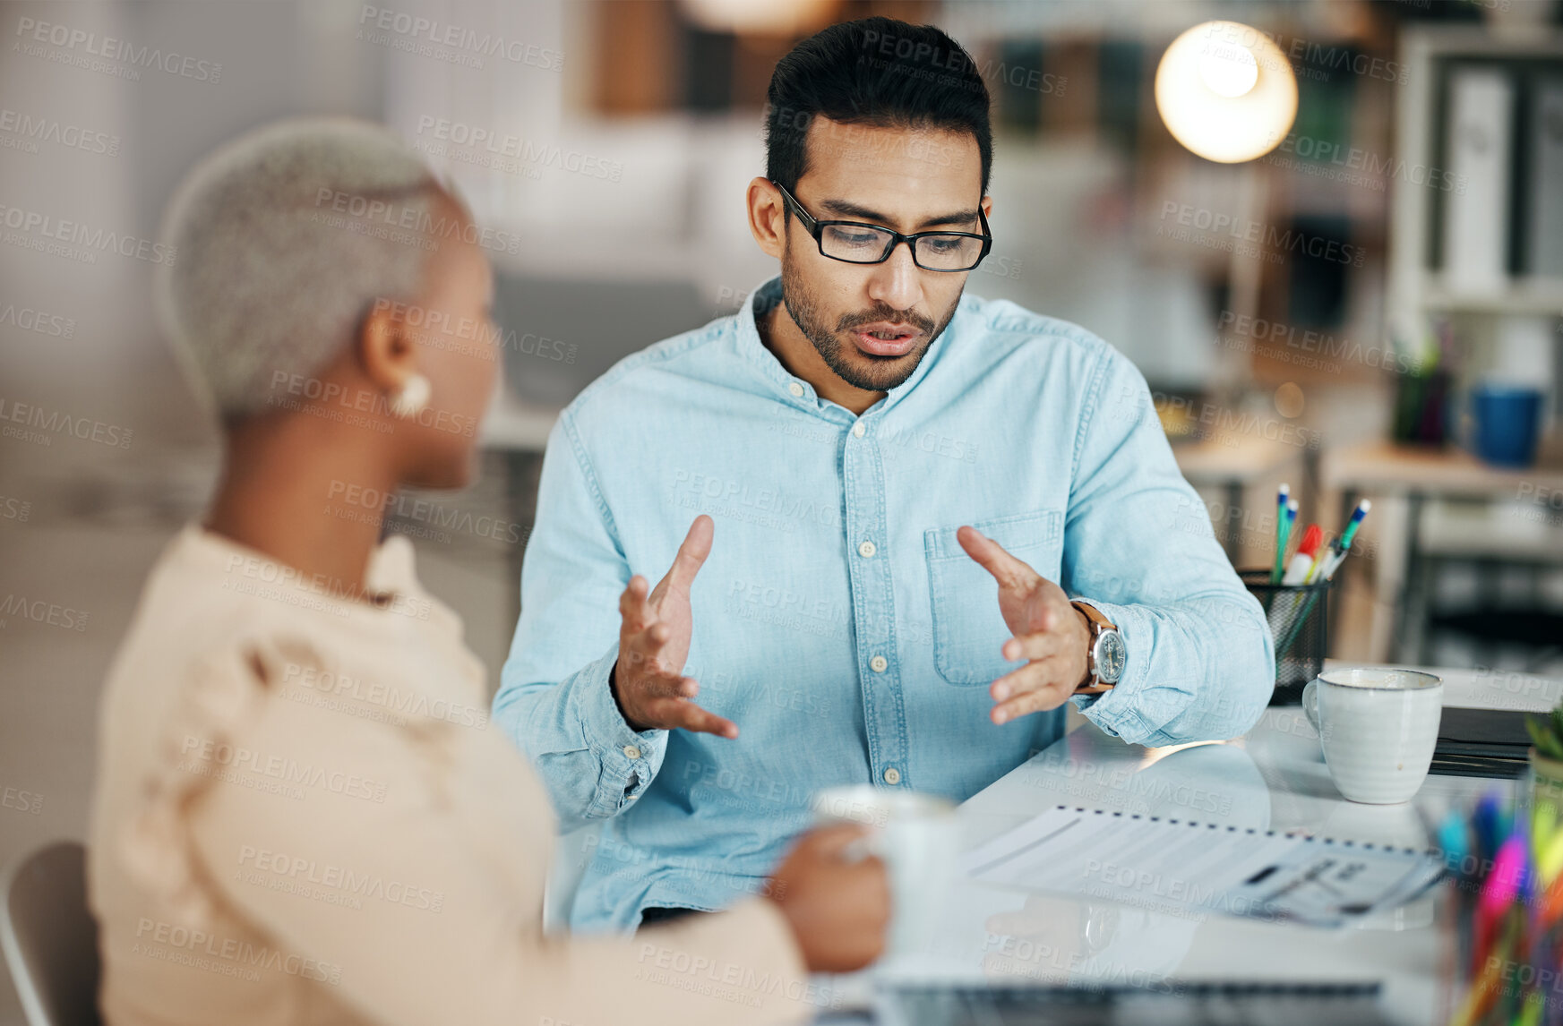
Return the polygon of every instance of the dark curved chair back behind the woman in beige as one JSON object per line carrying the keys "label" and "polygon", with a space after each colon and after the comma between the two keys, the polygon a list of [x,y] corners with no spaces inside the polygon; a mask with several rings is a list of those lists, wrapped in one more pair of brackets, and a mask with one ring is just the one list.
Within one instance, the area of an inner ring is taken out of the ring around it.
{"label": "dark curved chair back behind the woman in beige", "polygon": [[6,873],[0,948],[28,1026],[98,1026],[97,921],[88,912],[86,848],[58,840]]}

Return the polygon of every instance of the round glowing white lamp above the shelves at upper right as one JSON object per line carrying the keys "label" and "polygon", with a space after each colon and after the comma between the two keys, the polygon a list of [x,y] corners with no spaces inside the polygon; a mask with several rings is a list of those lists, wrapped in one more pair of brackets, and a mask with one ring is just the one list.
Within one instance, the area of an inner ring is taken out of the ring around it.
{"label": "round glowing white lamp above the shelves at upper right", "polygon": [[1264,156],[1297,117],[1286,55],[1238,22],[1205,22],[1174,39],[1157,67],[1155,94],[1172,137],[1221,164]]}

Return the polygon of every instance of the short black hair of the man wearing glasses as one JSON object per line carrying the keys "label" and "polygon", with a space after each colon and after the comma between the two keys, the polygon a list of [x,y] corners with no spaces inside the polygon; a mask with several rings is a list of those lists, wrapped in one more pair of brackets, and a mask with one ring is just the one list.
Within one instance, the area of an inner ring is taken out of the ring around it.
{"label": "short black hair of the man wearing glasses", "polygon": [[808,126],[827,117],[844,125],[971,133],[988,192],[988,86],[961,44],[933,25],[892,17],[832,25],[777,61],[767,98],[766,176],[788,191],[808,169]]}

